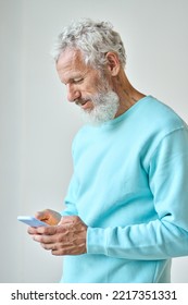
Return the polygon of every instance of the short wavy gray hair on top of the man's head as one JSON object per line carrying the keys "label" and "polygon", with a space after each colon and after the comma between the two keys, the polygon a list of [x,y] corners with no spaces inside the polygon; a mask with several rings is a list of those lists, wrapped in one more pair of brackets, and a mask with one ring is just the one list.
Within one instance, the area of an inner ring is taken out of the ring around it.
{"label": "short wavy gray hair on top of the man's head", "polygon": [[115,52],[122,66],[125,66],[126,54],[118,33],[109,22],[93,22],[89,19],[72,22],[58,36],[52,57],[58,61],[65,49],[78,49],[86,64],[101,69],[106,64],[105,54]]}

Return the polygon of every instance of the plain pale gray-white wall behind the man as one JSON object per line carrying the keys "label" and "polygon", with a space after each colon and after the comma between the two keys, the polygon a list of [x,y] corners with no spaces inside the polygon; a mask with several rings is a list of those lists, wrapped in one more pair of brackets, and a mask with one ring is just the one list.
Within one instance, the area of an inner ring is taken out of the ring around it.
{"label": "plain pale gray-white wall behind the man", "polygon": [[[188,122],[187,0],[0,0],[0,282],[57,282],[62,258],[34,243],[17,215],[61,210],[80,125],[49,53],[73,19],[111,21],[127,50],[133,85]],[[174,245],[176,246],[176,245]],[[188,258],[173,282],[188,282]]]}

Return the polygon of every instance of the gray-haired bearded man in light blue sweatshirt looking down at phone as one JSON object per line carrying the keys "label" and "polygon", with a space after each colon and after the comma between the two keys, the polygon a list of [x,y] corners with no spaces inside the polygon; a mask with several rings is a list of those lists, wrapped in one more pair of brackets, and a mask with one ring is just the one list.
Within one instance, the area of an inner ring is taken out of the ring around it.
{"label": "gray-haired bearded man in light blue sweatshirt looking down at phone", "polygon": [[170,282],[172,257],[188,255],[186,123],[133,87],[109,23],[72,23],[54,59],[87,124],[73,143],[65,210],[38,212],[51,225],[29,234],[65,256],[62,282]]}

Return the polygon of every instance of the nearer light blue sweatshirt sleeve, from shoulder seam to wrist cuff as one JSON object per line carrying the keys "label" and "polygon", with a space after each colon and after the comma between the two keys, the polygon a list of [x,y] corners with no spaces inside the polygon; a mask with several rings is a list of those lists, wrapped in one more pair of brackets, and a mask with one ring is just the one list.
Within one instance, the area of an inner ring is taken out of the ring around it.
{"label": "nearer light blue sweatshirt sleeve, from shoulder seam to wrist cuff", "polygon": [[88,228],[87,252],[127,259],[188,255],[188,130],[167,134],[149,162],[149,186],[158,218],[148,223]]}

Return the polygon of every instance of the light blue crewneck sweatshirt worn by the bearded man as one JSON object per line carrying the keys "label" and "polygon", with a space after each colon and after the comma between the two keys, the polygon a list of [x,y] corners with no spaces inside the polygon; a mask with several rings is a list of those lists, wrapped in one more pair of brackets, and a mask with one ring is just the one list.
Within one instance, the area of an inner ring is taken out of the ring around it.
{"label": "light blue crewneck sweatshirt worn by the bearded man", "polygon": [[170,282],[188,255],[188,127],[151,96],[73,143],[63,215],[88,225],[87,254],[65,256],[62,282]]}

